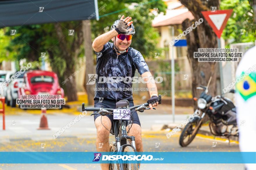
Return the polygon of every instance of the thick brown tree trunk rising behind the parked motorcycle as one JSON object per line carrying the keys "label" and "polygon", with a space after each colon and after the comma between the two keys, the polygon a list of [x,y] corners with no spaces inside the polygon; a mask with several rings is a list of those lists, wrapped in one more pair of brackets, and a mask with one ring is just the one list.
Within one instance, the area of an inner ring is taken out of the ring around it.
{"label": "thick brown tree trunk rising behind the parked motorcycle", "polygon": [[[198,21],[200,18],[204,19],[201,11],[209,11],[209,7],[211,6],[216,6],[217,9],[219,7],[219,1],[216,0],[180,0],[180,2],[186,6],[186,8],[188,8],[195,17],[193,21],[190,21],[189,19],[183,21],[183,30],[189,28],[195,21]],[[216,70],[218,70],[217,64],[215,62],[199,63],[196,59],[193,58],[193,53],[197,52],[198,48],[217,48],[216,34],[204,19],[203,23],[198,25],[195,30],[186,35],[186,39],[188,46],[188,59],[192,69],[192,95],[199,96],[200,92],[196,89],[196,87],[202,84],[202,82],[205,82],[205,80],[207,82],[212,75],[211,84],[209,86],[209,93],[212,96],[215,96]],[[201,78],[200,71],[205,73],[205,80]]]}

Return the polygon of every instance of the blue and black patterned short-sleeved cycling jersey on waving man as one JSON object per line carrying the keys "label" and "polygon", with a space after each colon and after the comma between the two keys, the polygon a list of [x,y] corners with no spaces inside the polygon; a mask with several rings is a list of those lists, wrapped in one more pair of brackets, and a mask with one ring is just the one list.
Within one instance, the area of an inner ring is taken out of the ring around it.
{"label": "blue and black patterned short-sleeved cycling jersey on waving man", "polygon": [[[125,53],[117,55],[113,48],[113,43],[106,43],[100,52],[97,54],[96,59],[96,90],[94,100],[103,98],[103,100],[133,100],[131,91],[106,91],[97,89],[127,89],[132,87],[132,83],[125,81],[107,83],[102,81],[102,77],[133,77],[136,69],[140,74],[149,72],[149,68],[145,60],[138,50],[131,47]],[[99,79],[100,82],[99,82]],[[101,83],[103,82],[103,83]]]}

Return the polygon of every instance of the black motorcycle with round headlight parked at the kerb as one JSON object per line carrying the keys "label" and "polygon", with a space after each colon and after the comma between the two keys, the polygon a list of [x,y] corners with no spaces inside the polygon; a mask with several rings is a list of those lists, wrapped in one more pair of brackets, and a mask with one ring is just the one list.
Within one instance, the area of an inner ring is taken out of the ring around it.
{"label": "black motorcycle with round headlight parked at the kerb", "polygon": [[[202,78],[205,78],[205,74],[201,72]],[[192,119],[188,121],[182,133],[179,137],[179,145],[186,147],[195,138],[198,130],[202,126],[202,120],[207,114],[210,118],[210,131],[215,136],[225,136],[228,139],[230,136],[237,136],[238,127],[236,121],[236,107],[229,98],[223,97],[223,95],[217,95],[212,98],[208,93],[209,84],[211,82],[210,77],[207,86],[197,87],[197,89],[203,90],[199,98],[193,98],[197,101],[198,109],[195,110],[196,114]],[[229,91],[235,93],[234,89]],[[194,113],[194,115],[195,115]]]}

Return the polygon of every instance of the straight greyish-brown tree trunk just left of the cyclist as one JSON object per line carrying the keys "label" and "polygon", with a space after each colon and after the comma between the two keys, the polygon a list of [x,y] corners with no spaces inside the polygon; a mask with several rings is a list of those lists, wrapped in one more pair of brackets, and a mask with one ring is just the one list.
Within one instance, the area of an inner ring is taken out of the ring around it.
{"label": "straight greyish-brown tree trunk just left of the cyclist", "polygon": [[95,74],[94,62],[93,62],[93,49],[92,49],[92,33],[90,20],[82,21],[83,40],[84,40],[84,51],[86,56],[86,68],[83,87],[88,95],[88,104],[94,105],[94,90],[95,85],[86,85],[88,82],[88,74]]}

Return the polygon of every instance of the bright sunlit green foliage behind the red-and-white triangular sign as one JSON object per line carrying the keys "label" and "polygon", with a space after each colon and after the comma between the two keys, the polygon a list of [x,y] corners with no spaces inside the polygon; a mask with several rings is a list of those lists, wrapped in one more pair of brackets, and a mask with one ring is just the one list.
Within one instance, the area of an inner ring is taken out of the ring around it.
{"label": "bright sunlit green foliage behind the red-and-white triangular sign", "polygon": [[[248,0],[222,0],[221,10],[233,9],[233,14],[223,31],[224,39],[232,43],[254,42],[256,40],[256,23],[253,18],[253,8]],[[241,30],[245,30],[243,34]]]}

